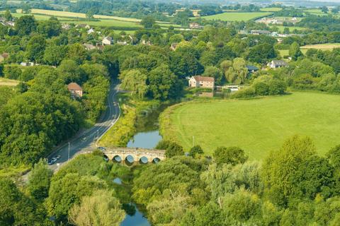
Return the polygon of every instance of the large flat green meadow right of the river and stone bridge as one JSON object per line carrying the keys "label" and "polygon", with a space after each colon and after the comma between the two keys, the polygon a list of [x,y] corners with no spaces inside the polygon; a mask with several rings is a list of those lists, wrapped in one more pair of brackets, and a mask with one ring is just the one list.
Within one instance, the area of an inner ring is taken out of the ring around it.
{"label": "large flat green meadow right of the river and stone bridge", "polygon": [[218,146],[237,145],[251,159],[261,160],[295,134],[310,136],[317,152],[326,153],[340,144],[339,115],[340,95],[324,93],[187,102],[166,109],[161,131],[186,151],[194,136],[195,145],[208,155]]}

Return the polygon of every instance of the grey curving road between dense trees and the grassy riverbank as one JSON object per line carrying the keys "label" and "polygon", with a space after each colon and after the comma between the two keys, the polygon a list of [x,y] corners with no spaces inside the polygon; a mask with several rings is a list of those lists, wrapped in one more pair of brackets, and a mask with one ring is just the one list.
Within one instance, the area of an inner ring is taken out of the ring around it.
{"label": "grey curving road between dense trees and the grassy riverbank", "polygon": [[67,160],[71,159],[74,155],[81,152],[86,152],[86,150],[93,149],[96,140],[101,138],[106,131],[108,131],[115,121],[117,121],[120,108],[115,100],[115,95],[118,93],[119,85],[118,83],[111,83],[110,92],[108,94],[107,100],[107,109],[106,112],[103,113],[101,120],[98,121],[91,129],[87,129],[81,134],[78,134],[77,137],[73,138],[69,143],[65,143],[60,148],[55,150],[51,155],[48,156],[48,159],[60,155],[60,159],[58,159],[55,163],[50,165],[50,169],[57,169]]}

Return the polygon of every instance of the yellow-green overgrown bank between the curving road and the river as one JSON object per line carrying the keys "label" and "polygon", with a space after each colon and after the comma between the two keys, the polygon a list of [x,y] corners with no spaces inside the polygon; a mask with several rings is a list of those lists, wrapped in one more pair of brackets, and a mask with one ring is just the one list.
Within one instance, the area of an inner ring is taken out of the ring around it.
{"label": "yellow-green overgrown bank between the curving road and the river", "polygon": [[98,145],[105,147],[126,147],[138,130],[138,117],[151,114],[161,105],[157,100],[136,100],[130,96],[130,93],[120,93],[118,101],[121,109],[120,119],[101,138]]}

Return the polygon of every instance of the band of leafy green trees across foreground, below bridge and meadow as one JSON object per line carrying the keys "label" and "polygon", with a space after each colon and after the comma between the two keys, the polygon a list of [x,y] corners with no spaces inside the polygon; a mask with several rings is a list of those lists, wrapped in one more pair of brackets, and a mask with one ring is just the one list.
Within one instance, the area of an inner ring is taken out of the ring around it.
{"label": "band of leafy green trees across foreground, below bridge and meadow", "polygon": [[23,191],[0,179],[0,223],[119,225],[135,211],[132,196],[154,225],[338,225],[339,146],[320,157],[310,138],[293,136],[256,162],[237,147],[207,159],[199,145],[188,157],[159,145],[168,159],[157,165],[129,169],[94,153],[54,175],[38,162]]}

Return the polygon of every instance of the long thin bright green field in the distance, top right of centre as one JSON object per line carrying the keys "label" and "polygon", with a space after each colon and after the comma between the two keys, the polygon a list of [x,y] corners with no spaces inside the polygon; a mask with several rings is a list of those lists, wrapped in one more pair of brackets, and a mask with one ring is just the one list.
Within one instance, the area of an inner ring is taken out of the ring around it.
{"label": "long thin bright green field in the distance, top right of centre", "polygon": [[271,13],[266,12],[255,12],[255,13],[246,13],[246,12],[226,12],[226,13],[220,13],[216,15],[211,16],[202,16],[202,18],[205,18],[206,20],[224,20],[224,21],[246,21],[246,20],[252,20],[254,18],[258,18],[261,16],[268,16]]}

